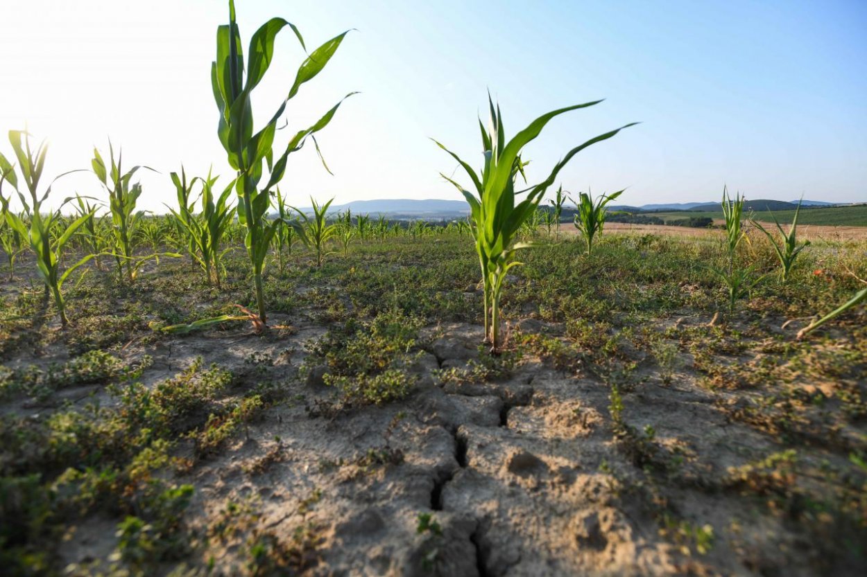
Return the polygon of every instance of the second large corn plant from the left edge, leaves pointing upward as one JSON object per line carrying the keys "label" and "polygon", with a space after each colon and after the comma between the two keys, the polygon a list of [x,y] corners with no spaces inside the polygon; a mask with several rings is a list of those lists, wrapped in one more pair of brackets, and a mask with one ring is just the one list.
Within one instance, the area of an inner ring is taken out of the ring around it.
{"label": "second large corn plant from the left edge, leaves pointing upward", "polygon": [[[144,213],[135,210],[141,196],[141,185],[138,182],[133,183],[132,179],[142,166],[136,165],[129,171],[123,172],[123,154],[119,152],[117,159],[114,159],[114,146],[111,142],[108,143],[108,152],[111,161],[109,166],[96,148],[91,166],[96,178],[99,178],[101,185],[108,191],[108,210],[111,211],[112,218],[111,255],[114,256],[118,276],[121,280],[133,282],[141,265],[157,256],[155,254],[135,256],[136,241]],[[170,254],[166,253],[166,255]]]}

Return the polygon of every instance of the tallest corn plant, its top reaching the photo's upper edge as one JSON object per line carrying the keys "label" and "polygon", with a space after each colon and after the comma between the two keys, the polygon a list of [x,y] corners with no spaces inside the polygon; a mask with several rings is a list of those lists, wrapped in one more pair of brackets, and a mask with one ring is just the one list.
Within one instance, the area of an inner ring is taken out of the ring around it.
{"label": "tallest corn plant, its top reaching the photo's upper edge", "polygon": [[[283,117],[289,100],[298,94],[304,82],[312,80],[325,68],[348,33],[348,31],[342,32],[335,36],[304,59],[283,103],[277,107],[277,111],[261,130],[254,133],[251,94],[271,66],[277,34],[287,26],[295,33],[301,47],[306,50],[301,32],[294,24],[283,18],[271,18],[253,34],[247,65],[244,68],[241,35],[235,22],[235,3],[229,0],[229,23],[220,26],[217,30],[217,59],[211,65],[214,100],[220,113],[217,132],[220,143],[228,155],[229,165],[238,173],[236,180],[238,220],[246,227],[244,246],[250,256],[258,318],[262,323],[266,321],[262,286],[264,261],[279,222],[268,217],[271,189],[284,177],[289,155],[300,150],[308,138],[313,139],[316,152],[319,152],[315,134],[328,126],[342,100],[313,125],[295,133],[284,152],[275,155],[273,143],[277,123]],[[347,96],[351,94],[354,93]],[[321,155],[320,159],[322,159]],[[268,175],[262,186],[265,176],[264,165],[267,165]],[[323,165],[327,170],[328,166],[325,165],[324,160]]]}

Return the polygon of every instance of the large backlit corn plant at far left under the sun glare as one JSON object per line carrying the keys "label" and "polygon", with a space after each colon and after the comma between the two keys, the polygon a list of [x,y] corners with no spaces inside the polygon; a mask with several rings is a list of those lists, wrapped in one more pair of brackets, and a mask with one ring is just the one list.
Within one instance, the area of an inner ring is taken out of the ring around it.
{"label": "large backlit corn plant at far left under the sun glare", "polygon": [[[84,256],[77,263],[63,270],[62,252],[69,240],[75,235],[75,231],[85,223],[88,215],[68,220],[62,217],[60,208],[43,213],[42,203],[49,197],[51,185],[42,195],[38,191],[48,147],[42,143],[36,148],[36,151],[31,149],[29,133],[25,131],[10,130],[9,139],[18,159],[18,168],[23,177],[23,183],[29,192],[29,198],[25,198],[23,193],[18,190],[15,171],[6,170],[10,163],[0,155],[3,177],[15,189],[23,206],[22,214],[17,215],[12,211],[4,211],[3,217],[11,229],[26,239],[30,249],[36,255],[36,270],[42,278],[42,282],[45,283],[46,291],[54,297],[62,327],[67,327],[69,320],[66,316],[66,301],[62,292],[63,283],[75,272],[75,269],[93,258],[93,255]],[[3,204],[5,206],[7,203]]]}

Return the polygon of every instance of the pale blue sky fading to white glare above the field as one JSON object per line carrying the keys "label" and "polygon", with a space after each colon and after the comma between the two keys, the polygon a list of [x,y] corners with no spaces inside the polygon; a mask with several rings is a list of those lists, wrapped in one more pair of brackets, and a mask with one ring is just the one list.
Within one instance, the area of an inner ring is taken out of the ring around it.
{"label": "pale blue sky fading to white glare above the field", "polygon": [[[867,201],[867,3],[433,3],[238,0],[244,46],[271,16],[308,48],[355,28],[322,75],[290,101],[290,130],[343,94],[313,147],[290,160],[290,204],[336,197],[453,198],[439,172],[456,165],[428,137],[481,163],[477,114],[486,90],[507,134],[553,108],[606,98],[551,122],[527,149],[531,181],[572,146],[630,121],[581,152],[564,188],[628,188],[623,204],[712,202],[723,184],[747,198]],[[220,0],[4,0],[0,8],[0,151],[26,121],[51,143],[47,175],[88,168],[110,136],[143,174],[140,206],[174,204],[168,172],[228,175],[210,84]],[[254,116],[271,115],[303,51],[277,40]],[[284,131],[284,139],[290,130]],[[225,180],[225,179],[224,179]],[[55,185],[104,198],[92,174]]]}

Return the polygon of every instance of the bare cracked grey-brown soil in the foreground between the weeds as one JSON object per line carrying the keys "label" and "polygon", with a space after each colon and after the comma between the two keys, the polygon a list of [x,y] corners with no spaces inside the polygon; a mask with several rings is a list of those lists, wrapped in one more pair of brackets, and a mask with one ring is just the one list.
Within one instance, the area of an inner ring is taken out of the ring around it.
{"label": "bare cracked grey-brown soil in the foreground between the weeds", "polygon": [[[538,321],[524,326],[557,331]],[[728,466],[772,451],[772,439],[733,423],[718,396],[688,373],[669,384],[646,375],[648,383],[629,394],[625,417],[652,426],[663,451],[683,457],[668,506],[715,528],[736,527],[737,539],[697,558],[688,536],[681,547],[663,538],[649,507],[656,489],[623,461],[612,437],[610,387],[601,380],[526,359],[507,379],[443,385],[433,373],[466,366],[481,338],[480,327],[452,324],[427,328],[429,352],[411,369],[419,381],[408,399],[329,414],[332,388],[315,377],[293,379],[305,342],[324,329],[297,328],[267,345],[239,331],[127,348],[130,358],[158,359],[146,382],[197,356],[243,371],[257,353],[274,360],[271,378],[295,383],[293,401],[269,409],[225,451],[179,477],[197,489],[188,517],[202,532],[225,515],[226,503],[246,503],[250,519],[235,520],[242,526],[284,541],[299,528],[310,532],[311,575],[765,574],[761,567],[816,574],[818,560],[799,547],[797,530],[756,516],[756,502],[720,486]],[[439,532],[418,533],[423,513]],[[88,522],[71,533],[67,561],[108,556],[114,538],[102,529]],[[244,540],[230,536],[224,545],[208,551],[218,574],[241,573]]]}

